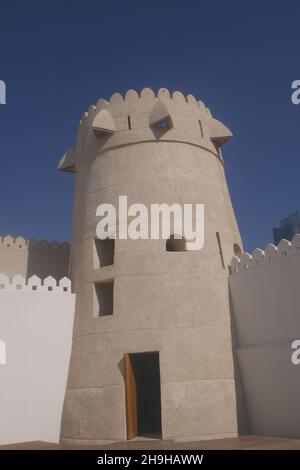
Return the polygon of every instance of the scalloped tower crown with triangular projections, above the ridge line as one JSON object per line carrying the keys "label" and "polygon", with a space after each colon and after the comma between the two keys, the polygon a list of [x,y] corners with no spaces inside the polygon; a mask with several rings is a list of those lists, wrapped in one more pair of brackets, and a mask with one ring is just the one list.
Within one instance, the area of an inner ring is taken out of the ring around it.
{"label": "scalloped tower crown with triangular projections, above the ridge line", "polygon": [[166,88],[157,93],[144,88],[140,94],[128,90],[124,97],[114,93],[109,101],[101,98],[83,114],[76,145],[61,158],[59,169],[75,172],[87,156],[155,141],[196,145],[222,161],[219,148],[231,137],[231,131],[193,95],[171,94]]}

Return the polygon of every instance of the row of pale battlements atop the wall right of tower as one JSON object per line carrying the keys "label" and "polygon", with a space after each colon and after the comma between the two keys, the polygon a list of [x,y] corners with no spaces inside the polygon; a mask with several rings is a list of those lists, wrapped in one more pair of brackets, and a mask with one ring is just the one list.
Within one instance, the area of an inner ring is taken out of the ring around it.
{"label": "row of pale battlements atop the wall right of tower", "polygon": [[275,263],[282,257],[295,255],[300,255],[300,233],[297,233],[291,242],[283,238],[278,246],[269,243],[265,250],[256,248],[252,254],[245,252],[240,257],[234,256],[230,265],[230,274],[245,272],[265,264]]}

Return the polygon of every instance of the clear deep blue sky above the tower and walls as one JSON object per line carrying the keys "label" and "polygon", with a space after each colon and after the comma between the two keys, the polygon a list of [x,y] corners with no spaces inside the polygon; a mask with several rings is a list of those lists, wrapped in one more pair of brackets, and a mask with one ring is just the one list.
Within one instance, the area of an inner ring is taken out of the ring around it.
{"label": "clear deep blue sky above the tower and walls", "polygon": [[192,93],[234,133],[223,147],[248,250],[299,208],[300,2],[0,4],[0,235],[71,236],[73,176],[57,171],[82,113],[149,86]]}

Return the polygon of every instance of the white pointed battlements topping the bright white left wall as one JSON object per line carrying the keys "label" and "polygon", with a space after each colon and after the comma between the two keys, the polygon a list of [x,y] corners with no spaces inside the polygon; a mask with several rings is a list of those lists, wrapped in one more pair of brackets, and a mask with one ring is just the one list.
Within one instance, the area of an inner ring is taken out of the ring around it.
{"label": "white pointed battlements topping the bright white left wall", "polygon": [[57,282],[52,276],[42,280],[33,275],[26,282],[25,277],[21,274],[10,278],[4,273],[0,273],[0,292],[2,291],[71,293],[71,281],[69,278],[63,277]]}

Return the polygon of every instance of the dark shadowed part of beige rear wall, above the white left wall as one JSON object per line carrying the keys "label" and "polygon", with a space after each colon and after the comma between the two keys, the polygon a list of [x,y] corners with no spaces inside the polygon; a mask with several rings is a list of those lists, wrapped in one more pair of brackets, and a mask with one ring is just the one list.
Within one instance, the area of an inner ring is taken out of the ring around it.
{"label": "dark shadowed part of beige rear wall, above the white left wall", "polygon": [[61,279],[68,276],[69,249],[37,246],[34,240],[28,242],[28,258],[26,278],[33,274],[44,279],[47,276],[53,276],[55,279]]}

